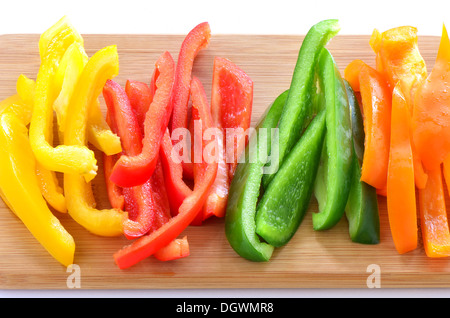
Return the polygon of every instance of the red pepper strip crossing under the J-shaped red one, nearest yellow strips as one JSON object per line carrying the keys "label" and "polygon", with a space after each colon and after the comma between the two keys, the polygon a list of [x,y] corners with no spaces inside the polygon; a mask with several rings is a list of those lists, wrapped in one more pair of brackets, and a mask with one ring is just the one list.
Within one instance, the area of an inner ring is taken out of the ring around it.
{"label": "red pepper strip crossing under the J-shaped red one, nearest yellow strips", "polygon": [[[123,154],[136,154],[142,150],[142,132],[134,114],[133,107],[125,90],[114,81],[107,81],[103,88],[103,96],[111,119],[112,129],[121,138]],[[165,193],[162,166],[157,163],[152,176],[143,184],[134,187],[124,187],[125,210],[129,212],[124,221],[124,235],[131,239],[140,237],[158,223],[165,223],[169,219],[169,206],[156,200]],[[156,183],[156,184],[155,184]]]}

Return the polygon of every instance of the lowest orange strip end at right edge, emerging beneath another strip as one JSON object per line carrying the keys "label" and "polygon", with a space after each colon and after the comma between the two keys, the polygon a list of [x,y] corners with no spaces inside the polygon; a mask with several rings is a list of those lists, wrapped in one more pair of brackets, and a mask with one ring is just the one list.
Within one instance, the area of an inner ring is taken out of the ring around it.
{"label": "lowest orange strip end at right edge, emerging beneath another strip", "polygon": [[422,241],[428,257],[450,256],[450,232],[445,204],[442,167],[427,171],[428,181],[419,189]]}

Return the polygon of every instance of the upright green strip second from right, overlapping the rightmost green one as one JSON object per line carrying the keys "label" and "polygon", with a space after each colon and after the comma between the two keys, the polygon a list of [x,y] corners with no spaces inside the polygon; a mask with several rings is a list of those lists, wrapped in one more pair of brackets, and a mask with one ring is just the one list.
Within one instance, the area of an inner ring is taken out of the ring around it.
{"label": "upright green strip second from right, overlapping the rightmost green one", "polygon": [[318,64],[319,87],[326,110],[326,136],[314,194],[319,211],[313,213],[314,230],[337,224],[345,213],[351,182],[352,127],[347,92],[331,53],[322,49]]}

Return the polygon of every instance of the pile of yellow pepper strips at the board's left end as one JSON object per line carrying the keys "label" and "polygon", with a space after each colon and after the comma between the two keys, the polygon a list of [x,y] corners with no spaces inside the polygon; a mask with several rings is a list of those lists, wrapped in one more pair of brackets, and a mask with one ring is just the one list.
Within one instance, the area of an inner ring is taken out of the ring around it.
{"label": "pile of yellow pepper strips at the board's left end", "polygon": [[[97,161],[87,146],[89,142],[107,155],[122,151],[98,100],[105,82],[118,75],[119,59],[114,45],[88,58],[83,38],[67,17],[41,35],[39,54],[36,81],[20,75],[17,94],[0,103],[0,192],[42,246],[68,266],[75,242],[49,206],[102,236],[121,234],[126,217],[117,209],[95,208],[90,181]],[[64,174],[63,185],[56,172]]]}

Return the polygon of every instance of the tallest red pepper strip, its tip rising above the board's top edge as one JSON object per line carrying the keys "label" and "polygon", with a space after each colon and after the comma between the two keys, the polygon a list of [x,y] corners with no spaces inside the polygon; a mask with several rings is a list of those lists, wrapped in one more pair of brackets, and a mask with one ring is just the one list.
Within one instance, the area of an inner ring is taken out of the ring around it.
{"label": "tallest red pepper strip, its tip rising above the board's top edge", "polygon": [[[192,68],[198,53],[206,48],[211,38],[211,29],[208,22],[203,22],[194,27],[185,37],[178,54],[178,62],[175,73],[175,83],[172,95],[173,114],[171,132],[177,128],[188,127],[188,101],[189,86],[192,79]],[[186,140],[173,141],[184,143],[180,149],[187,149]],[[185,176],[193,177],[193,166],[191,162],[183,162]]]}

